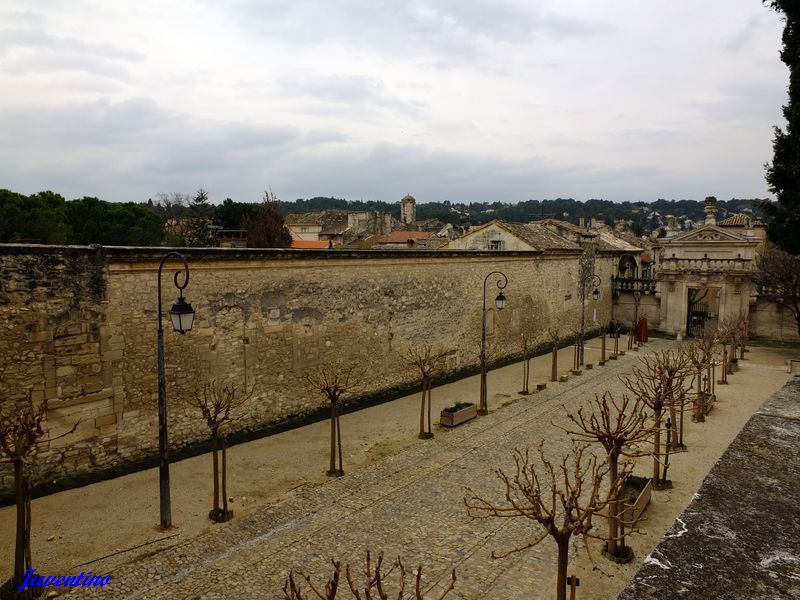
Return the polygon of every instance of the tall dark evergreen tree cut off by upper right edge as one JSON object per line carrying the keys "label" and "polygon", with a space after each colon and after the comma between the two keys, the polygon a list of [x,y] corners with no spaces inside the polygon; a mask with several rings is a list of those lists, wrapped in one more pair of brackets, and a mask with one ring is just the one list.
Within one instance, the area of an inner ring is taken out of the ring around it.
{"label": "tall dark evergreen tree cut off by upper right edge", "polygon": [[800,3],[797,0],[770,0],[769,6],[782,12],[781,60],[789,67],[789,101],[783,107],[785,131],[775,128],[772,165],[767,165],[767,183],[778,199],[764,203],[767,233],[779,247],[800,254]]}

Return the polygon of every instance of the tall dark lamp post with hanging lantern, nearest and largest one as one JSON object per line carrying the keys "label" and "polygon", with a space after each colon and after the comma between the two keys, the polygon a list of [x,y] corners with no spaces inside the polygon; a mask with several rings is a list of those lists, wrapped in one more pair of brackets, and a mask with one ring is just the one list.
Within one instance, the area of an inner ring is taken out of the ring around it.
{"label": "tall dark lamp post with hanging lantern, nearest and largest one", "polygon": [[172,527],[172,509],[169,499],[169,442],[167,440],[167,382],[164,374],[164,329],[161,326],[161,271],[164,263],[170,258],[176,258],[183,263],[183,283],[178,283],[181,271],[176,271],[174,276],[175,287],[178,288],[178,301],[172,305],[169,318],[172,328],[180,334],[192,329],[194,323],[194,310],[192,305],[183,297],[184,288],[189,285],[189,265],[182,254],[169,252],[161,259],[158,266],[158,480],[159,504],[161,508],[161,528]]}

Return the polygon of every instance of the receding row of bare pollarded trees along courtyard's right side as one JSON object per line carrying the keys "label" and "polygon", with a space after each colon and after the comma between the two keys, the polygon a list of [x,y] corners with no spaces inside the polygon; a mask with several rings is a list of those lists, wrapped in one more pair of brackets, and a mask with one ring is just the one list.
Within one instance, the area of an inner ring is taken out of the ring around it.
{"label": "receding row of bare pollarded trees along courtyard's right side", "polygon": [[[569,425],[554,425],[572,437],[570,452],[560,458],[548,457],[541,444],[534,460],[528,450],[515,450],[513,470],[495,469],[502,482],[501,500],[487,499],[468,488],[464,504],[470,516],[520,517],[541,527],[531,542],[492,556],[520,552],[551,537],[558,548],[558,600],[566,598],[568,548],[574,536],[583,539],[590,559],[587,540],[591,538],[605,541],[605,553],[612,559],[632,556],[625,536],[636,531],[636,522],[623,510],[630,461],[652,455],[654,487],[668,484],[669,454],[681,444],[687,396],[696,385],[694,411],[702,410],[701,394],[707,393],[704,385],[715,364],[717,347],[722,346],[723,356],[725,344],[736,347],[743,357],[746,337],[746,321],[729,319],[716,331],[677,349],[640,357],[631,375],[620,378],[630,395],[597,394],[587,407],[567,412]],[[663,441],[665,432],[669,443]],[[649,451],[645,447],[648,440],[652,441]],[[590,451],[589,444],[599,445],[602,453]],[[597,530],[597,517],[607,519],[606,532]]]}

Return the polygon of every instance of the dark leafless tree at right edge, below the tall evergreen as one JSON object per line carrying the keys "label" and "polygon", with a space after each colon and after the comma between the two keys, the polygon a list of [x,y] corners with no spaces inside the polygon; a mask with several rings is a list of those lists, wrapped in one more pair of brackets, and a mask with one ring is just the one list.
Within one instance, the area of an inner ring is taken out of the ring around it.
{"label": "dark leafless tree at right edge, below the tall evergreen", "polygon": [[768,248],[753,277],[758,295],[788,310],[800,335],[800,256]]}

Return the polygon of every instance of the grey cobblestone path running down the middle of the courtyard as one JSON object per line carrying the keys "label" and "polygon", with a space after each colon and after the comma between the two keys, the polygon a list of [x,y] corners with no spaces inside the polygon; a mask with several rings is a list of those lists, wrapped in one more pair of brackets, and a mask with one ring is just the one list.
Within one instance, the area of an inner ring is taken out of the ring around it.
{"label": "grey cobblestone path running down the middle of the courtyard", "polygon": [[[653,341],[641,353],[669,343]],[[302,568],[324,585],[331,558],[360,571],[370,549],[383,550],[387,559],[401,556],[409,570],[423,564],[423,582],[432,591],[444,587],[455,568],[458,580],[448,600],[550,598],[555,545],[548,539],[522,554],[493,560],[492,550],[530,541],[533,524],[470,519],[464,488],[499,500],[501,483],[491,469],[513,466],[515,447],[535,448],[544,440],[549,454],[566,451],[568,436],[551,426],[565,422],[562,405],[576,409],[605,390],[621,394],[618,376],[638,355],[628,352],[531,396],[495,395],[488,416],[111,571],[112,584],[93,593],[98,598],[282,598],[290,569]],[[501,407],[503,401],[507,404]]]}

